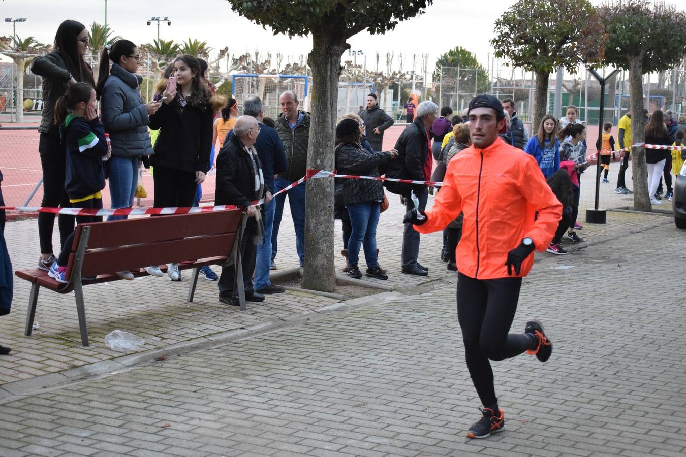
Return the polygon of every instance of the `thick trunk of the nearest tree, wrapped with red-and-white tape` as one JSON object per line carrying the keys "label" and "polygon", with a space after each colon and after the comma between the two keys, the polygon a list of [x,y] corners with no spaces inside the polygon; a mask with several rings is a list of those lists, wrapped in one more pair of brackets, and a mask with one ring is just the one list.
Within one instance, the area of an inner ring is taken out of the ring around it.
{"label": "thick trunk of the nearest tree, wrapped with red-and-white tape", "polygon": [[[314,30],[312,33],[309,66],[312,69],[313,87],[308,169],[334,169],[338,79],[345,45],[345,38],[331,36],[331,30]],[[322,292],[333,292],[335,289],[333,233],[333,177],[307,180],[303,288]]]}

